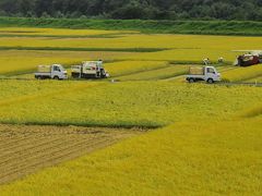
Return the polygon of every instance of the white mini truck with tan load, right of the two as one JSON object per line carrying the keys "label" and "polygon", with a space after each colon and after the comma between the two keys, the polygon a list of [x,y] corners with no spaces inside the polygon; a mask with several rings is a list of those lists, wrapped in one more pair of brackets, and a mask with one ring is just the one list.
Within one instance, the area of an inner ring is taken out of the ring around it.
{"label": "white mini truck with tan load, right of the two", "polygon": [[189,83],[205,81],[206,83],[212,84],[221,81],[221,74],[214,66],[191,66],[189,69],[189,75],[187,75],[186,78]]}

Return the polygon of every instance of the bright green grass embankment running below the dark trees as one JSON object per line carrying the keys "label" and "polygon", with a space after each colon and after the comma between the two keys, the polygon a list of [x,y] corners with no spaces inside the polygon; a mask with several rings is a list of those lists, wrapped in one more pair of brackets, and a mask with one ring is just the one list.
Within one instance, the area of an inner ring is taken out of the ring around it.
{"label": "bright green grass embankment running below the dark trees", "polygon": [[262,35],[262,23],[251,21],[127,21],[0,17],[0,26],[128,29],[162,34]]}

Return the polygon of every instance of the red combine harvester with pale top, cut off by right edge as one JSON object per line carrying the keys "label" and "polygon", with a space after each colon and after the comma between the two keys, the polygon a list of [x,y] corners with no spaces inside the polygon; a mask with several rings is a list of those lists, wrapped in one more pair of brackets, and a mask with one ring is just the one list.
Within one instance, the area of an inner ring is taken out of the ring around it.
{"label": "red combine harvester with pale top, cut off by right edge", "polygon": [[[241,51],[247,51],[247,50],[241,50]],[[262,51],[250,50],[248,52],[249,53],[238,56],[235,64],[239,66],[251,66],[254,64],[262,63]]]}

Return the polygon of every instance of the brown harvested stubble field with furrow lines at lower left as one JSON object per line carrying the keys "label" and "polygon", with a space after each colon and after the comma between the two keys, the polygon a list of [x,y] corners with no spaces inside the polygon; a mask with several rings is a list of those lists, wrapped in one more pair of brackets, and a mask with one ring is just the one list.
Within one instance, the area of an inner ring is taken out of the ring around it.
{"label": "brown harvested stubble field with furrow lines at lower left", "polygon": [[0,125],[0,184],[141,133],[142,130]]}

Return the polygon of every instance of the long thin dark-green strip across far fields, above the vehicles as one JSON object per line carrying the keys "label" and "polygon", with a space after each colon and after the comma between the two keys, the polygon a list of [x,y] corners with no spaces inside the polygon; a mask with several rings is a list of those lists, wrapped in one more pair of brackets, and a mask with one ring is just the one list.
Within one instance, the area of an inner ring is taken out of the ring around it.
{"label": "long thin dark-green strip across far fields, above the vehicles", "polygon": [[167,48],[71,48],[71,47],[0,47],[0,50],[51,50],[51,51],[116,51],[116,52],[157,52]]}

